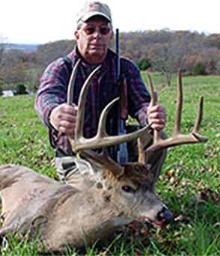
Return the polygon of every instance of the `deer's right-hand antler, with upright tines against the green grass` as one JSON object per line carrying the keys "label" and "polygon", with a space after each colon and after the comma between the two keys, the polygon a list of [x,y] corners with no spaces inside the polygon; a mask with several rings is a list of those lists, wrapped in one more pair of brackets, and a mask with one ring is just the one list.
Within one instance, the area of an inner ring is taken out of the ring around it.
{"label": "deer's right-hand antler, with upright tines against the green grass", "polygon": [[[156,104],[155,95],[153,92],[153,84],[150,79],[150,75],[147,74],[148,81],[150,84],[150,91],[152,95],[152,102],[153,106]],[[183,89],[182,89],[182,79],[181,79],[181,71],[178,72],[178,95],[177,95],[177,109],[175,115],[175,124],[174,124],[174,133],[171,138],[162,139],[159,136],[159,132],[154,130],[154,138],[153,144],[147,148],[145,151],[147,158],[157,150],[161,150],[167,147],[173,147],[180,144],[187,144],[187,143],[202,143],[208,141],[206,136],[200,135],[198,130],[201,125],[202,115],[203,115],[203,97],[201,97],[199,109],[198,109],[198,118],[195,122],[195,127],[193,131],[189,135],[183,135],[180,132],[180,121],[181,121],[181,112],[183,106]]]}

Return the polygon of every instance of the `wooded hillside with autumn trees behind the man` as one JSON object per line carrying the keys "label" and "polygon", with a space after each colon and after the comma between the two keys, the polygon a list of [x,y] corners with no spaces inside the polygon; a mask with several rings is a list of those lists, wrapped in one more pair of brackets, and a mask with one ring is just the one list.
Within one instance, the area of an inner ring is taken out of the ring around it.
{"label": "wooded hillside with autumn trees behind the man", "polygon": [[[37,47],[35,52],[7,50],[0,37],[0,94],[25,85],[36,91],[46,66],[64,57],[76,40],[59,40]],[[114,49],[114,41],[111,43]],[[135,31],[120,33],[120,55],[134,61],[141,70],[149,68],[164,74],[167,84],[181,68],[186,75],[220,74],[220,34],[192,31]]]}

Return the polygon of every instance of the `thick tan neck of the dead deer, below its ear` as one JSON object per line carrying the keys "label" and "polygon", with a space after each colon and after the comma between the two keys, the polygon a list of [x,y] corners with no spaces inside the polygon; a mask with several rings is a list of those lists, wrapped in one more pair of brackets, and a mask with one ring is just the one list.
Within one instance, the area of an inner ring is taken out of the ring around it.
{"label": "thick tan neck of the dead deer, below its ear", "polygon": [[126,219],[115,205],[114,179],[106,174],[101,175],[100,180],[87,191],[71,195],[53,213],[55,219],[48,225],[45,235],[49,248],[61,241],[72,246],[84,246],[85,239],[87,243],[94,242],[132,221]]}

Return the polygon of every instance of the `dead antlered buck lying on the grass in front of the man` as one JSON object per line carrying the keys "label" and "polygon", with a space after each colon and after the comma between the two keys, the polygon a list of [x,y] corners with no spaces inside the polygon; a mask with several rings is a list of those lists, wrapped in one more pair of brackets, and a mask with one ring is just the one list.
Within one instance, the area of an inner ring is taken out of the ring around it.
{"label": "dead antlered buck lying on the grass in front of the man", "polygon": [[[74,84],[77,67],[73,70],[70,85]],[[155,132],[153,145],[143,150],[139,145],[138,162],[123,165],[114,162],[105,148],[113,144],[138,138],[147,127],[132,134],[109,137],[106,134],[106,116],[111,102],[100,117],[100,125],[94,138],[82,135],[85,112],[85,97],[91,79],[98,68],[88,77],[79,97],[78,122],[73,150],[91,159],[97,173],[97,180],[87,191],[78,191],[73,186],[58,183],[49,177],[38,174],[19,165],[0,167],[0,191],[2,199],[1,218],[4,225],[0,228],[0,237],[8,233],[28,234],[31,239],[39,235],[39,250],[45,252],[62,251],[64,245],[85,246],[107,237],[117,228],[132,220],[167,225],[172,215],[162,200],[156,195],[154,186],[157,174],[150,171],[147,159],[156,150],[184,143],[200,143],[207,137],[198,134],[202,118],[202,100],[198,111],[198,121],[190,135],[180,133],[180,115],[182,106],[182,84],[179,73],[179,97],[174,135],[160,140]],[[150,80],[150,78],[149,78]],[[150,88],[152,83],[150,80]],[[71,86],[68,103],[71,98]],[[152,93],[153,95],[153,88]],[[155,101],[153,97],[153,101]],[[97,153],[93,148],[104,148]]]}

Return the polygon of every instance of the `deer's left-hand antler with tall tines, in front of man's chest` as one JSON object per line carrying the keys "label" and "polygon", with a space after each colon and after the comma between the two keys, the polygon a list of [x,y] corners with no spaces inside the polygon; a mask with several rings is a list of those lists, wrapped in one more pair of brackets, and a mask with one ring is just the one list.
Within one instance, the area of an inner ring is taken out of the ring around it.
{"label": "deer's left-hand antler with tall tines, in front of man's chest", "polygon": [[[70,77],[70,82],[68,85],[67,92],[67,104],[71,105],[73,100],[73,85],[76,78],[76,72],[79,67],[79,61],[77,61],[73,73]],[[103,150],[103,153],[96,153],[91,149],[97,149],[102,147],[109,147],[115,144],[120,144],[123,142],[131,141],[132,139],[140,137],[147,129],[149,129],[150,125],[139,129],[138,131],[131,132],[126,135],[115,135],[109,136],[106,133],[106,118],[109,113],[109,110],[114,105],[114,103],[119,100],[116,98],[112,100],[104,109],[100,115],[100,121],[97,129],[97,135],[93,138],[85,138],[83,136],[83,126],[84,126],[84,115],[85,115],[85,99],[88,94],[88,88],[91,83],[91,80],[94,78],[95,74],[100,70],[100,67],[94,69],[91,74],[86,79],[84,85],[82,86],[82,90],[79,95],[78,102],[78,112],[76,116],[76,130],[74,135],[74,141],[72,135],[69,135],[70,143],[72,145],[73,151],[80,152],[82,155],[87,156],[91,159],[94,159],[96,162],[100,162],[101,165],[109,168],[115,175],[119,176],[123,173],[123,167],[114,162],[108,155],[107,150]]]}

